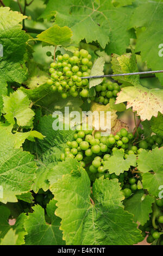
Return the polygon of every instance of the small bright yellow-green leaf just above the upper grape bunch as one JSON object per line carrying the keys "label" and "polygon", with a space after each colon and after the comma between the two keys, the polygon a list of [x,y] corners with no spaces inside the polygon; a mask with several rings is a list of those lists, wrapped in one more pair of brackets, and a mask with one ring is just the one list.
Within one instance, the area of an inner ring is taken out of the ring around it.
{"label": "small bright yellow-green leaf just above the upper grape bunch", "polygon": [[66,26],[59,27],[58,25],[54,25],[37,35],[37,38],[42,42],[57,46],[70,44],[71,36],[72,31],[70,28]]}

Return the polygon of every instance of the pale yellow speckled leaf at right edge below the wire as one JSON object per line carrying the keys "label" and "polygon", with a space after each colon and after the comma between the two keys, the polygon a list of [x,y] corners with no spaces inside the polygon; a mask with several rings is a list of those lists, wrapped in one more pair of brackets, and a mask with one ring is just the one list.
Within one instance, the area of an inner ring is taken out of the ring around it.
{"label": "pale yellow speckled leaf at right edge below the wire", "polygon": [[142,121],[151,120],[152,116],[163,114],[163,90],[147,89],[136,84],[136,87],[124,87],[118,93],[116,104],[127,101],[127,109],[133,107]]}

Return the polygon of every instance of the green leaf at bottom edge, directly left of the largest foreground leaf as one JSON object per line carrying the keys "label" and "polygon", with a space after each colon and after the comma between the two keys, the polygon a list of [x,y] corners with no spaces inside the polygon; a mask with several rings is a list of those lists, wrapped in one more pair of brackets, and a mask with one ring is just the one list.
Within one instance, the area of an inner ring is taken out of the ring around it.
{"label": "green leaf at bottom edge, directly left of the largest foreground leaf", "polygon": [[26,245],[64,245],[62,233],[59,230],[60,218],[54,215],[56,210],[55,200],[51,200],[46,211],[51,224],[45,221],[45,212],[40,205],[33,207],[33,214],[28,214],[24,227],[27,230]]}

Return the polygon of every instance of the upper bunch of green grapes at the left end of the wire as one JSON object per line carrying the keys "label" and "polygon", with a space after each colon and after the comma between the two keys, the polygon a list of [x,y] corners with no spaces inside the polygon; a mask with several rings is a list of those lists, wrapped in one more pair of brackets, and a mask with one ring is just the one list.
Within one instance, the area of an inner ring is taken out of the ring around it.
{"label": "upper bunch of green grapes at the left end of the wire", "polygon": [[89,81],[81,77],[90,75],[93,64],[91,58],[91,54],[84,49],[75,51],[72,57],[67,53],[59,55],[57,61],[51,63],[51,78],[47,80],[47,84],[53,92],[61,93],[63,99],[70,95],[87,97]]}

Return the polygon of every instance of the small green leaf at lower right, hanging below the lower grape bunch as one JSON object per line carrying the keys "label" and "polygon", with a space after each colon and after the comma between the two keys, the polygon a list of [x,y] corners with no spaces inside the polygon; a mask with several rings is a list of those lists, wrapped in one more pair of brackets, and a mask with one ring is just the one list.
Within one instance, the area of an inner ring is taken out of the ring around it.
{"label": "small green leaf at lower right, hanging below the lower grape bunch", "polygon": [[154,198],[148,194],[145,195],[143,190],[139,190],[126,200],[124,206],[126,211],[134,214],[134,222],[138,221],[144,225],[152,212],[152,203],[154,203]]}

